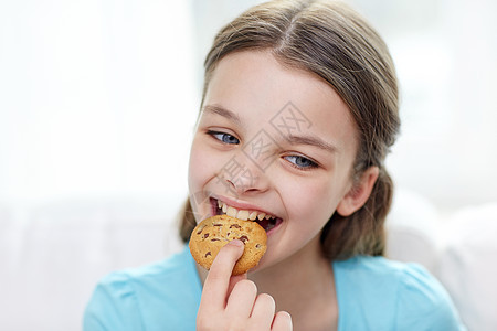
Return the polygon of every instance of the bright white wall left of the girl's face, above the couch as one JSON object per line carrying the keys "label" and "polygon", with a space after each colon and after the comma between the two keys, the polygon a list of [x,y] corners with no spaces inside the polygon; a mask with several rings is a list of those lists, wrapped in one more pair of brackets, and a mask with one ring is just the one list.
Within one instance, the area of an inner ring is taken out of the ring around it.
{"label": "bright white wall left of the girl's face, above the couch", "polygon": [[0,202],[186,196],[188,1],[1,1]]}

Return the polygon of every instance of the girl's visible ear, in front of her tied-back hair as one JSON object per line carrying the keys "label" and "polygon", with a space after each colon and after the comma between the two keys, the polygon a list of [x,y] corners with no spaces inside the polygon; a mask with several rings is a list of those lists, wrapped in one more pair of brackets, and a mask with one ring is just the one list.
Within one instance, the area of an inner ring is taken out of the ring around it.
{"label": "girl's visible ear, in front of her tied-back hair", "polygon": [[379,174],[378,167],[368,168],[359,179],[359,182],[353,183],[352,188],[346,193],[337,206],[337,213],[341,216],[349,216],[359,210],[368,201],[372,188],[377,182]]}

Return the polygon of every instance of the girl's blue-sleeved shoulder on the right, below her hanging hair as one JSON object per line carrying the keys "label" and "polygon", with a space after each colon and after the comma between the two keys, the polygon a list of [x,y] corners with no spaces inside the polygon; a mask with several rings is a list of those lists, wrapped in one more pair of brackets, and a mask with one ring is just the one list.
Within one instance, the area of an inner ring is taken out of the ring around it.
{"label": "girl's blue-sleeved shoulder on the right, below her hanging hair", "polygon": [[448,293],[421,265],[357,256],[336,261],[334,268],[337,296],[358,309],[343,297],[353,292],[361,309],[371,312],[368,318],[382,316],[399,330],[462,330]]}

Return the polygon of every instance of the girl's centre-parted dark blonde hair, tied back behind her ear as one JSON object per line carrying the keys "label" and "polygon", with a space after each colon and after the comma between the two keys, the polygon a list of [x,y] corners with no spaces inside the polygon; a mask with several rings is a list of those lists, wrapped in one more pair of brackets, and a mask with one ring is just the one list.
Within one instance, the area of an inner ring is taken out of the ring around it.
{"label": "girl's centre-parted dark blonde hair, tied back behind her ear", "polygon": [[[351,177],[358,180],[372,166],[380,174],[360,210],[347,217],[330,215],[321,234],[322,250],[329,259],[383,255],[384,220],[393,194],[383,161],[400,128],[395,71],[385,43],[343,3],[269,1],[242,13],[218,33],[204,63],[203,96],[216,64],[230,53],[247,50],[269,50],[283,65],[320,76],[348,105],[359,134]],[[187,201],[182,241],[188,242],[194,225]]]}

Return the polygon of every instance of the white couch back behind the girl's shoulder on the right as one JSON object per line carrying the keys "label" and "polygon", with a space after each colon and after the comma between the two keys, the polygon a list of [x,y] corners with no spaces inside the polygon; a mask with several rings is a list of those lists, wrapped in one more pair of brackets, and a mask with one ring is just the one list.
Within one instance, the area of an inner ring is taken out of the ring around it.
{"label": "white couch back behind the girl's shoulder on the right", "polygon": [[468,330],[497,330],[497,202],[441,214],[413,192],[398,193],[388,220],[388,255],[432,271]]}

